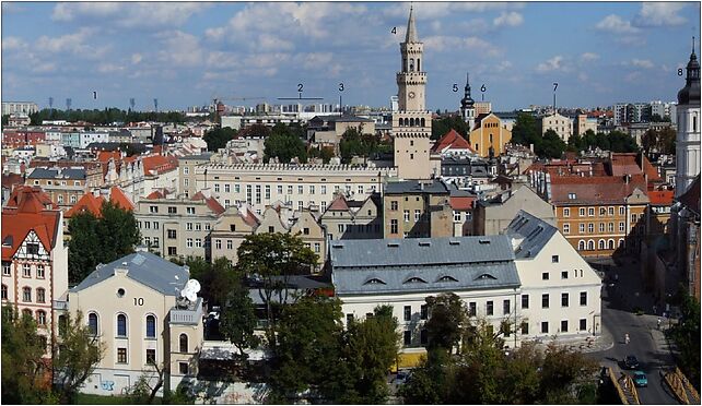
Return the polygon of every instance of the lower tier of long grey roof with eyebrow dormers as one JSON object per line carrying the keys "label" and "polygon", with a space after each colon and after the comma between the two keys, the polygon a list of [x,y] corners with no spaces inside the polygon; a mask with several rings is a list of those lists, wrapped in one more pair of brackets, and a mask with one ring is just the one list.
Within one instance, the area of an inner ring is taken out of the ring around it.
{"label": "lower tier of long grey roof with eyebrow dormers", "polygon": [[335,268],[332,279],[337,295],[479,290],[520,285],[514,261],[493,264]]}

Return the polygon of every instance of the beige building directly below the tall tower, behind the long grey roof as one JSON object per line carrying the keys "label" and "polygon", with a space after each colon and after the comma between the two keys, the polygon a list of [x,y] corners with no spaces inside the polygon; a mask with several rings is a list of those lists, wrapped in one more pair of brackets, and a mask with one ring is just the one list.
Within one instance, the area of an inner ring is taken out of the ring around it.
{"label": "beige building directly below the tall tower, behind the long grey roof", "polygon": [[383,195],[383,238],[452,237],[451,189],[441,180],[390,182]]}

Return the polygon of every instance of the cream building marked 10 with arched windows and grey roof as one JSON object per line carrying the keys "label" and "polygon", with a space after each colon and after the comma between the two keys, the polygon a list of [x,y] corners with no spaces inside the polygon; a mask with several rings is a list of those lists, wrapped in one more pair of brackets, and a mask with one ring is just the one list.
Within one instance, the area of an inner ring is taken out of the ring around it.
{"label": "cream building marked 10 with arched windows and grey roof", "polygon": [[[69,290],[65,304],[105,345],[83,393],[120,395],[155,369],[165,368],[164,390],[175,390],[197,375],[202,346],[202,299],[179,299],[189,278],[178,266],[149,252],[136,252],[101,264]],[[162,391],[160,391],[162,394]]]}

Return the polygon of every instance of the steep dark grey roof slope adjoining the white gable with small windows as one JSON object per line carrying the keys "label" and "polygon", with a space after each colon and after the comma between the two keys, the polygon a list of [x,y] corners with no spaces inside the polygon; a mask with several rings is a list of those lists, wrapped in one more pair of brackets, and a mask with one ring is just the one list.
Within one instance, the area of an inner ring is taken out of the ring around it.
{"label": "steep dark grey roof slope adjoining the white gable with small windows", "polygon": [[555,227],[524,210],[517,213],[504,230],[514,241],[514,252],[518,259],[536,256],[555,232]]}

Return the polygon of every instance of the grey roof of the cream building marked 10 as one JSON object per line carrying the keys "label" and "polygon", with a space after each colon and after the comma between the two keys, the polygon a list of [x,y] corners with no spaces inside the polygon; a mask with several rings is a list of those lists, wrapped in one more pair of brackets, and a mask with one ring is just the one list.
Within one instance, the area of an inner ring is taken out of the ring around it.
{"label": "grey roof of the cream building marked 10", "polygon": [[175,296],[188,282],[189,272],[150,252],[140,251],[122,256],[93,271],[70,291],[80,291],[97,285],[115,275],[115,268],[126,267],[127,277],[157,290],[166,296]]}

